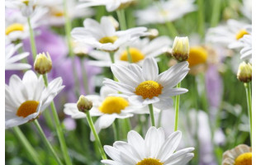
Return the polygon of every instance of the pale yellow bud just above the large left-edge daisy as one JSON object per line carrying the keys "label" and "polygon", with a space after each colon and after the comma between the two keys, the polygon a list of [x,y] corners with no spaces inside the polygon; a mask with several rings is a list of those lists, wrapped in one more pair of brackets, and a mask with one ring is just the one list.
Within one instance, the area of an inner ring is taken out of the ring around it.
{"label": "pale yellow bud just above the large left-edge daisy", "polygon": [[50,72],[50,70],[52,68],[52,62],[50,59],[50,54],[47,52],[46,55],[45,55],[45,53],[36,55],[34,68],[37,73],[45,74],[45,73]]}

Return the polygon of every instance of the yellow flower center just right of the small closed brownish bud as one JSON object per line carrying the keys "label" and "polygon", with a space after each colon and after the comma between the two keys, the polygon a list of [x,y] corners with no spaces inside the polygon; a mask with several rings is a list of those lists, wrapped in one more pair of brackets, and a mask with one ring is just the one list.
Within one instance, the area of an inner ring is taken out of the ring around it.
{"label": "yellow flower center just right of the small closed brownish bud", "polygon": [[107,97],[103,102],[99,110],[105,114],[120,114],[122,110],[129,106],[129,102],[122,97]]}

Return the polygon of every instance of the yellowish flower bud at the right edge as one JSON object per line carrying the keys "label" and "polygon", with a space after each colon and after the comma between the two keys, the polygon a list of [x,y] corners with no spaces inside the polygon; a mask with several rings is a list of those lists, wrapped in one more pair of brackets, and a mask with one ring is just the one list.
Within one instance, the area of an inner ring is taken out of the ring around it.
{"label": "yellowish flower bud at the right edge", "polygon": [[252,65],[246,64],[245,62],[239,64],[237,78],[239,79],[240,82],[251,82],[252,81]]}

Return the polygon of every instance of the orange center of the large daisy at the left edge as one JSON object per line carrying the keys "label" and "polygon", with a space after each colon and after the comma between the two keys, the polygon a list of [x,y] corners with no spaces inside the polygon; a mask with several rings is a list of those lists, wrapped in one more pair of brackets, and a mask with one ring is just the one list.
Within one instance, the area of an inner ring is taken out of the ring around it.
{"label": "orange center of the large daisy at the left edge", "polygon": [[26,117],[36,112],[39,101],[25,101],[18,108],[16,115],[19,117]]}

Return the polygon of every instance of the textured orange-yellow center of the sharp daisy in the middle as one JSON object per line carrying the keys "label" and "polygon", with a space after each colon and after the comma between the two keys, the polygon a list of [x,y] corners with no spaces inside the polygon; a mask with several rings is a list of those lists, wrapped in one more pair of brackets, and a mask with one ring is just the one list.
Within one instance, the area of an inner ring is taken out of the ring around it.
{"label": "textured orange-yellow center of the sharp daisy in the middle", "polygon": [[143,99],[158,97],[162,93],[163,86],[158,82],[145,81],[141,82],[138,87],[135,88],[135,94],[140,95]]}

